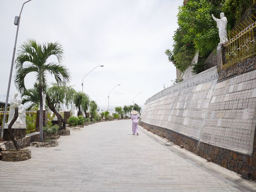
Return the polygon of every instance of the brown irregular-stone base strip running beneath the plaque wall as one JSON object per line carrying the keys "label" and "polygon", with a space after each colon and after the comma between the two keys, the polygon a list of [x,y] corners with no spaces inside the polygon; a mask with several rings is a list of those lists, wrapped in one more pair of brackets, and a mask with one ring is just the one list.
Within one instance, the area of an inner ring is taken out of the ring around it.
{"label": "brown irregular-stone base strip running beneath the plaque wall", "polygon": [[[254,150],[253,157],[250,157],[231,150],[226,150],[225,148],[198,142],[188,136],[184,136],[166,128],[146,124],[142,121],[140,121],[139,124],[144,129],[166,138],[174,144],[181,146],[182,148],[184,147],[186,150],[193,152],[204,159],[208,159],[213,163],[219,164],[220,166],[241,175],[242,172],[246,172],[247,176],[251,174],[252,178],[254,180],[256,179],[256,150]],[[254,140],[254,145],[256,146],[256,140]]]}

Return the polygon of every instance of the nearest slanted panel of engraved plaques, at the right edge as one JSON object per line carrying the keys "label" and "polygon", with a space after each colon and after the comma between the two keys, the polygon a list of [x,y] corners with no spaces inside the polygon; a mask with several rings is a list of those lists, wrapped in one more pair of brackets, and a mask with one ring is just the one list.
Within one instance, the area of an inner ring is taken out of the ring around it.
{"label": "nearest slanted panel of engraved plaques, at the right edge", "polygon": [[252,154],[255,108],[256,70],[216,84],[202,141]]}

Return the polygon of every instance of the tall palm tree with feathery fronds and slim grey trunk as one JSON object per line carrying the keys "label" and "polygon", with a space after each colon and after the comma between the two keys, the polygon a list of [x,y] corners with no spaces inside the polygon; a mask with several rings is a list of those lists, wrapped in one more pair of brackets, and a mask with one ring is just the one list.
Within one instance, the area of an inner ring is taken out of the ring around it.
{"label": "tall palm tree with feathery fronds and slim grey trunk", "polygon": [[[56,56],[58,62],[50,62],[49,57]],[[61,64],[63,58],[62,46],[58,43],[40,44],[36,40],[29,39],[20,46],[16,58],[16,75],[14,83],[17,89],[23,93],[26,91],[24,79],[30,72],[36,73],[39,93],[39,130],[40,141],[43,140],[43,100],[42,93],[47,86],[47,72],[54,76],[58,84],[67,84],[70,81],[68,69]]]}

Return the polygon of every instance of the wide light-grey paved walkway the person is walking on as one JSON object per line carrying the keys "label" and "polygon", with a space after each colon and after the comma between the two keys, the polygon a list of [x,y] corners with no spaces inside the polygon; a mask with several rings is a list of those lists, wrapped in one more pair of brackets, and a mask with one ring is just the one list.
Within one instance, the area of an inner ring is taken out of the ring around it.
{"label": "wide light-grey paved walkway the person is walking on", "polygon": [[249,191],[184,149],[145,130],[131,133],[130,120],[100,122],[61,136],[57,147],[29,147],[30,160],[0,161],[0,192]]}

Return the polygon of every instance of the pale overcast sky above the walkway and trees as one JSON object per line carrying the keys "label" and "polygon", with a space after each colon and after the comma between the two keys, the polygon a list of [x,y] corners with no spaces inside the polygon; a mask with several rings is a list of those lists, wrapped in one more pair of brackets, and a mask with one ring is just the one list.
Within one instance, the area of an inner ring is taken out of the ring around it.
{"label": "pale overcast sky above the walkway and trees", "polygon": [[[16,34],[14,17],[26,0],[0,0],[0,101],[5,102]],[[28,38],[64,48],[70,85],[99,106],[143,105],[172,85],[176,69],[164,51],[172,48],[178,6],[183,0],[32,0],[24,5],[17,50]],[[13,75],[15,70],[13,71]],[[10,96],[16,90],[12,78]],[[54,81],[49,78],[49,81]],[[26,77],[32,88],[34,74]],[[10,99],[9,99],[10,102]]]}

